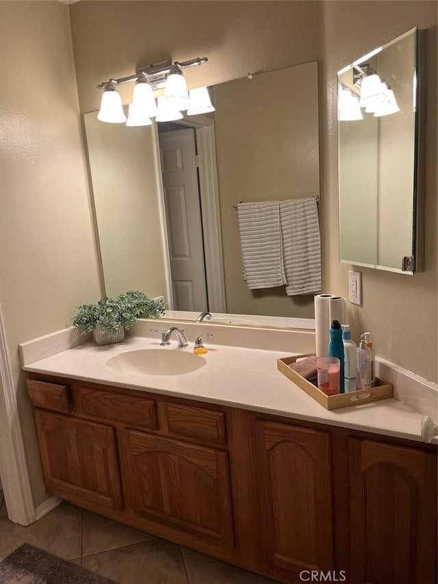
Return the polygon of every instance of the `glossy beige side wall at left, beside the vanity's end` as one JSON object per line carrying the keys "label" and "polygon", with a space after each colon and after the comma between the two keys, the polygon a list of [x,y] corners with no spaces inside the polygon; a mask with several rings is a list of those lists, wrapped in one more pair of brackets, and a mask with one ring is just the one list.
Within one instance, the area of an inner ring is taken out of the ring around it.
{"label": "glossy beige side wall at left, beside the vanity's end", "polygon": [[99,298],[68,8],[0,2],[0,305],[34,503],[45,498],[18,343]]}

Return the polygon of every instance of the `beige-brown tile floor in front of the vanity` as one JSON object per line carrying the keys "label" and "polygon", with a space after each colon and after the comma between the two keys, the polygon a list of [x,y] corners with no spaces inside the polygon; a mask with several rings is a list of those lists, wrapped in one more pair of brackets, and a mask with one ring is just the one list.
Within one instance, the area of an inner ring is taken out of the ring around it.
{"label": "beige-brown tile floor in front of the vanity", "polygon": [[27,542],[119,584],[274,584],[69,503],[22,527],[8,520],[1,499],[0,560]]}

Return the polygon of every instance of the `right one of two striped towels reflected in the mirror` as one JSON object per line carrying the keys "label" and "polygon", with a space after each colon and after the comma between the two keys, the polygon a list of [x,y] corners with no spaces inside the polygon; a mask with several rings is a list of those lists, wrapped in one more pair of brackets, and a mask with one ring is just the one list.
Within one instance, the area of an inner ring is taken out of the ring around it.
{"label": "right one of two striped towels reflected in the mirror", "polygon": [[321,240],[316,199],[280,203],[287,296],[321,291]]}

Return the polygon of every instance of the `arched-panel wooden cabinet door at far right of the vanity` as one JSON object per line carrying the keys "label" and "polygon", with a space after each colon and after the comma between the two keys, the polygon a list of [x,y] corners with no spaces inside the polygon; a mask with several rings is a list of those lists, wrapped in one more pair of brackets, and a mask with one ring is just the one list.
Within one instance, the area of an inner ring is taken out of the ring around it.
{"label": "arched-panel wooden cabinet door at far right of the vanity", "polygon": [[351,581],[435,584],[436,457],[350,439]]}

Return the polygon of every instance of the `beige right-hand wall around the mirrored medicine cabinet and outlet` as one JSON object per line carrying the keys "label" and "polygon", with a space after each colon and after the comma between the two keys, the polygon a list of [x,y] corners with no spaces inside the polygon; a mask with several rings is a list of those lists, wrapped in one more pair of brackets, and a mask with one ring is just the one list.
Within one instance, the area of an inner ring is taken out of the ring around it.
{"label": "beige right-hand wall around the mirrored medicine cabinet and outlet", "polygon": [[[363,307],[348,304],[352,334],[371,331],[376,353],[437,381],[437,3],[324,1],[320,127],[324,288],[348,294],[338,262],[336,72],[414,26],[428,29],[426,262],[415,276],[361,268]],[[395,169],[396,170],[396,169]]]}

